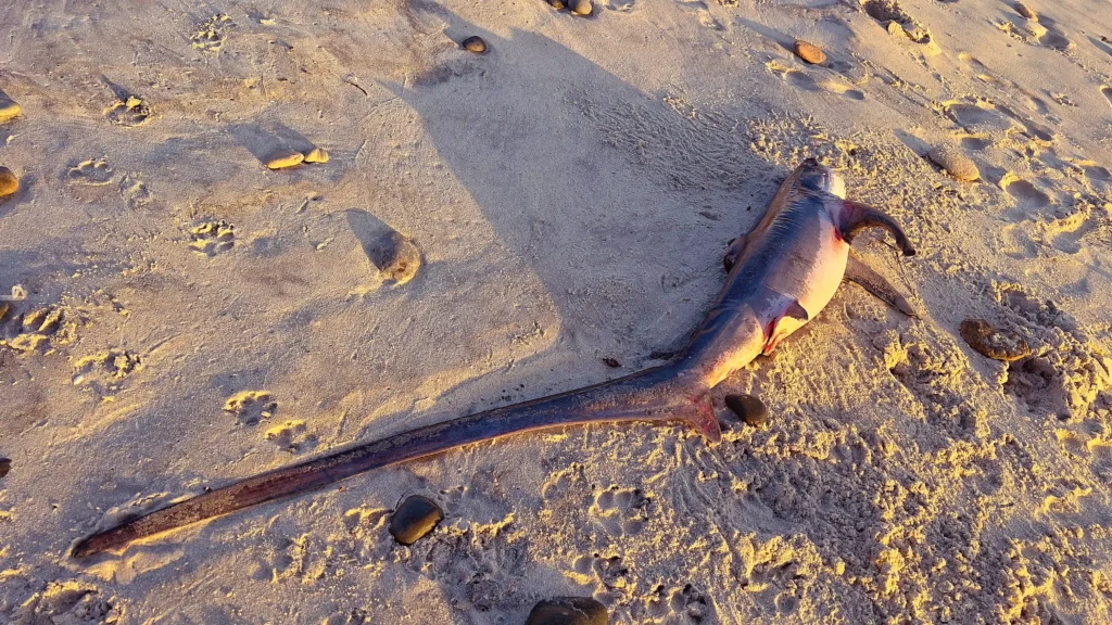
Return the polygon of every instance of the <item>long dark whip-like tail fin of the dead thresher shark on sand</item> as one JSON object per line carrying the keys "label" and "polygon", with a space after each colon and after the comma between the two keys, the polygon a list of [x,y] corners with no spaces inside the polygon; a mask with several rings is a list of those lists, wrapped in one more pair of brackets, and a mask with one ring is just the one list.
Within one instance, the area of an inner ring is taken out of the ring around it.
{"label": "long dark whip-like tail fin of the dead thresher shark on sand", "polygon": [[721,438],[706,389],[692,388],[678,365],[646,369],[559,395],[428,425],[248,477],[127,520],[78,543],[73,557],[121,552],[136,540],[266,502],[316,490],[373,468],[522,431],[622,420],[687,420]]}

